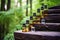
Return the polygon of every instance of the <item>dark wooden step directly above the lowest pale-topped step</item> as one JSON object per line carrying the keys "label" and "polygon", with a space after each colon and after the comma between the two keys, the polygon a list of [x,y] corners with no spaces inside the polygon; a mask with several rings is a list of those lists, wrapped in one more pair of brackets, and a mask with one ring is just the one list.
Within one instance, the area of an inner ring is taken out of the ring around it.
{"label": "dark wooden step directly above the lowest pale-topped step", "polygon": [[36,31],[60,31],[60,23],[30,24]]}

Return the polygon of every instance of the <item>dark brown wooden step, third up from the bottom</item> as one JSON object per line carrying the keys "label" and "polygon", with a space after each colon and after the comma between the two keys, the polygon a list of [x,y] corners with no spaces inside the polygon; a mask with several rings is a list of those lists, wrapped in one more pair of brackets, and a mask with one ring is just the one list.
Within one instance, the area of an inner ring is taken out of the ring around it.
{"label": "dark brown wooden step, third up from the bottom", "polygon": [[50,15],[45,17],[46,22],[52,22],[52,23],[60,23],[60,15]]}

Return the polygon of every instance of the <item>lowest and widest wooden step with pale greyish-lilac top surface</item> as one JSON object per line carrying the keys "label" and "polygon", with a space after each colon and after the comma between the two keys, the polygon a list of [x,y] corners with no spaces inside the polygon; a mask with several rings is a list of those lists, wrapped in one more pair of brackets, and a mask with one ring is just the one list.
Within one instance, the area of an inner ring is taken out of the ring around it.
{"label": "lowest and widest wooden step with pale greyish-lilac top surface", "polygon": [[14,33],[15,40],[60,40],[60,32],[21,32]]}

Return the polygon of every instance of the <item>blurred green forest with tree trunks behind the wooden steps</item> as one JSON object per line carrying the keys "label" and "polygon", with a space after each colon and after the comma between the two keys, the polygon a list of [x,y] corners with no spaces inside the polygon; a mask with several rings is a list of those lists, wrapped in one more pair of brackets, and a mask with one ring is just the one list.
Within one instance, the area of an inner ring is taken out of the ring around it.
{"label": "blurred green forest with tree trunks behind the wooden steps", "polygon": [[[48,8],[60,5],[60,0],[0,0],[1,40],[14,40],[14,31],[21,30],[22,24],[41,4]],[[2,7],[5,5],[4,7]],[[27,16],[26,16],[27,15]]]}

